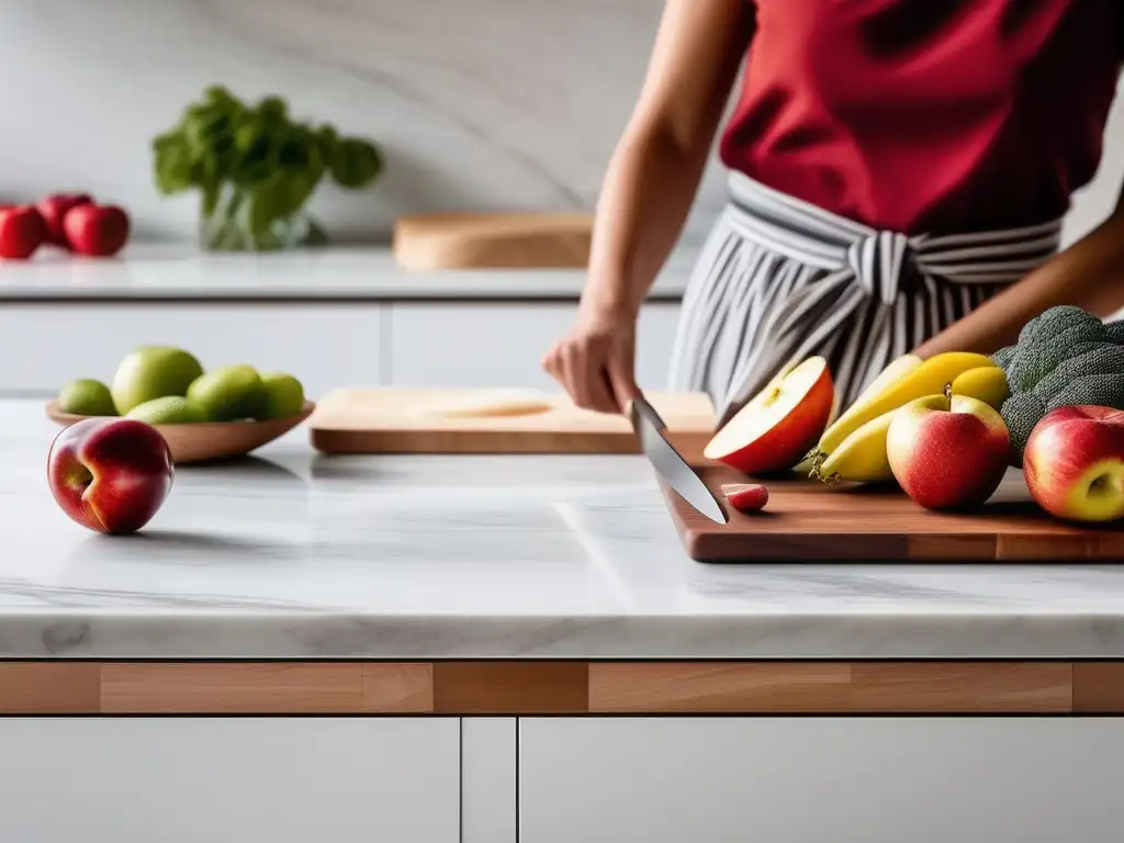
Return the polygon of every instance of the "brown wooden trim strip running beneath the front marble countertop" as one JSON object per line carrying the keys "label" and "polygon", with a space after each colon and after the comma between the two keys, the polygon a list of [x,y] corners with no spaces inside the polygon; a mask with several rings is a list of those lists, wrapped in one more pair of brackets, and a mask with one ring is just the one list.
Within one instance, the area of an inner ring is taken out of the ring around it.
{"label": "brown wooden trim strip running beneath the front marble countertop", "polygon": [[0,715],[1124,714],[1112,662],[0,662]]}

